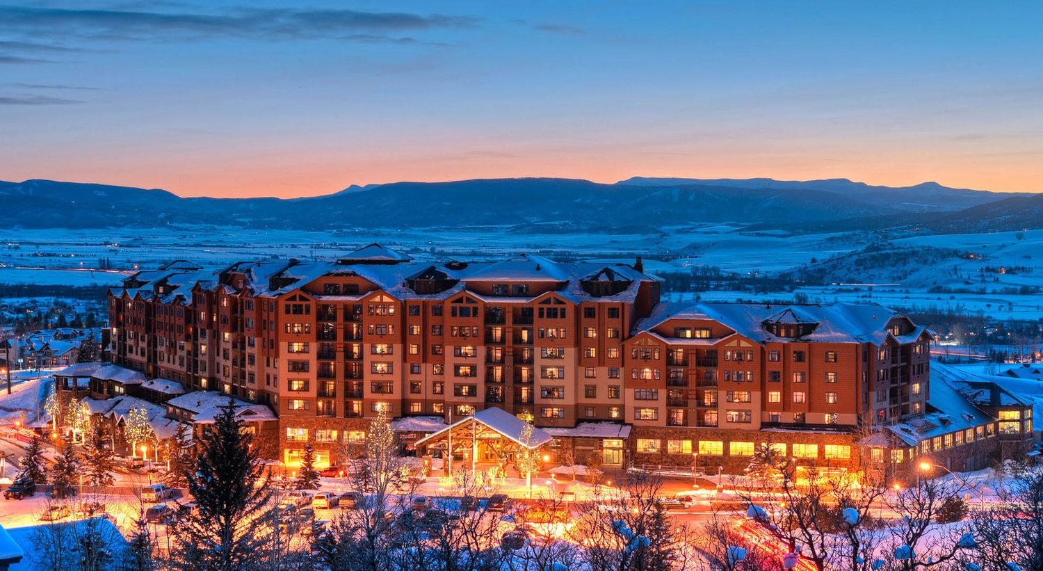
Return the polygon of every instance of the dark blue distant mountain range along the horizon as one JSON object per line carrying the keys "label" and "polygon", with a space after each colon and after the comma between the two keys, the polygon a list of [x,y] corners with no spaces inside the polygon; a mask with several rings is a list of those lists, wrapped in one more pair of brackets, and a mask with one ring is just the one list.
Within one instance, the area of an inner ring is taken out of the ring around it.
{"label": "dark blue distant mountain range along the horizon", "polygon": [[653,232],[739,222],[792,232],[919,225],[937,232],[1043,228],[1043,194],[880,187],[845,179],[491,179],[351,186],[308,198],[183,198],[159,189],[32,180],[0,182],[7,228],[152,228],[212,223],[263,228],[516,227]]}

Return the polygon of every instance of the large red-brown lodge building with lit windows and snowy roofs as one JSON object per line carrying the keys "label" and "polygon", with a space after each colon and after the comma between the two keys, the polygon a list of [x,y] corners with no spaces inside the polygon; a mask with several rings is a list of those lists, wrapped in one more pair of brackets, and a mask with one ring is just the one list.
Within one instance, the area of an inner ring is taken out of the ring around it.
{"label": "large red-brown lodge building with lit windows and snowy roofs", "polygon": [[308,443],[338,462],[380,410],[418,452],[470,426],[471,441],[450,439],[472,466],[495,459],[484,438],[511,423],[461,421],[492,408],[531,418],[552,462],[605,470],[741,473],[761,446],[841,469],[869,450],[898,471],[965,470],[1032,449],[1030,405],[932,372],[930,332],[902,313],[659,298],[640,259],[439,265],[371,244],[333,262],[177,261],[110,292],[111,353],[169,419],[190,422],[214,396],[252,403],[290,469]]}

